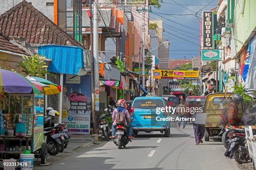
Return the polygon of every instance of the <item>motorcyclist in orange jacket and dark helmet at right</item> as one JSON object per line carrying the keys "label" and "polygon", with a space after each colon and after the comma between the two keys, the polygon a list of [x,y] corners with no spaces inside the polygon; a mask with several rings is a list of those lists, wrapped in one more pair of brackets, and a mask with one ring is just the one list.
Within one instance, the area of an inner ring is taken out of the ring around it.
{"label": "motorcyclist in orange jacket and dark helmet at right", "polygon": [[228,125],[238,125],[239,118],[238,118],[238,104],[243,101],[243,97],[238,95],[237,93],[233,94],[232,102],[228,105]]}

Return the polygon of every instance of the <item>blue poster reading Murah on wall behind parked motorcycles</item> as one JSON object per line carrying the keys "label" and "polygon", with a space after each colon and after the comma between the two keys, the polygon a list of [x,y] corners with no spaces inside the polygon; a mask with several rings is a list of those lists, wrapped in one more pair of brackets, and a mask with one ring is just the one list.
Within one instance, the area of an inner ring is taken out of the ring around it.
{"label": "blue poster reading Murah on wall behind parked motorcycles", "polygon": [[62,97],[62,122],[69,133],[90,134],[91,76],[79,76],[80,83],[70,83],[64,75]]}

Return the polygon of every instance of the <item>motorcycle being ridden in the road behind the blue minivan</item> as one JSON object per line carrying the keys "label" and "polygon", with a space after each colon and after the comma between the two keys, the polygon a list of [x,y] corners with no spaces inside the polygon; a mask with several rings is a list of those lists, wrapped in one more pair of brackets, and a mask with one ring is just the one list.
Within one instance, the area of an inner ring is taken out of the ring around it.
{"label": "motorcycle being ridden in the road behind the blue minivan", "polygon": [[128,139],[128,130],[124,125],[116,125],[114,143],[118,146],[118,149],[125,148],[125,146],[131,141]]}

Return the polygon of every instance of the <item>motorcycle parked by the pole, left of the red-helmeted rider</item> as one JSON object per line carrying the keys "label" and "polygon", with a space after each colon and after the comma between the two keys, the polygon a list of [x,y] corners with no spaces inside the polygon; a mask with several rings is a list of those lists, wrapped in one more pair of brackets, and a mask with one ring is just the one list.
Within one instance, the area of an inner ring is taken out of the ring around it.
{"label": "motorcycle parked by the pole, left of the red-helmeted rider", "polygon": [[111,117],[110,108],[106,108],[105,111],[108,111],[108,113],[100,115],[99,128],[102,130],[102,135],[105,137],[105,139],[109,141],[109,137],[111,136],[111,133],[112,133],[110,120],[107,120],[108,119],[107,117]]}

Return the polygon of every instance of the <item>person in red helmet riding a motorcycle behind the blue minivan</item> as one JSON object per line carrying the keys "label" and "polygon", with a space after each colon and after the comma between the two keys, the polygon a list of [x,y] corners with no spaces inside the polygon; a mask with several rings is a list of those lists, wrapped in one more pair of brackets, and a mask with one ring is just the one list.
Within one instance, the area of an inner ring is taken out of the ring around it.
{"label": "person in red helmet riding a motorcycle behind the blue minivan", "polygon": [[125,109],[126,101],[124,99],[118,100],[118,107],[113,111],[112,115],[112,136],[110,138],[115,138],[115,128],[116,128],[116,116],[118,112],[123,112],[125,114],[125,125],[128,128],[128,138],[133,139],[132,136],[133,127],[131,125],[131,116],[127,109]]}

